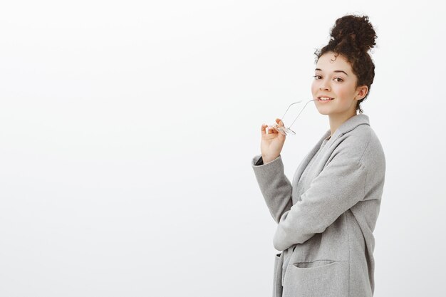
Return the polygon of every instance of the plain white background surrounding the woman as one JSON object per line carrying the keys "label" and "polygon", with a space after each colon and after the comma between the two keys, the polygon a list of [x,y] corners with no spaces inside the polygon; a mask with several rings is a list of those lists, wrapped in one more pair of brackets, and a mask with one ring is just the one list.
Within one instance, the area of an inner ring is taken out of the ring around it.
{"label": "plain white background surrounding the woman", "polygon": [[[378,34],[375,296],[444,296],[442,1],[2,1],[0,296],[271,296],[260,126],[311,99],[336,19]],[[291,179],[328,130],[308,104]]]}

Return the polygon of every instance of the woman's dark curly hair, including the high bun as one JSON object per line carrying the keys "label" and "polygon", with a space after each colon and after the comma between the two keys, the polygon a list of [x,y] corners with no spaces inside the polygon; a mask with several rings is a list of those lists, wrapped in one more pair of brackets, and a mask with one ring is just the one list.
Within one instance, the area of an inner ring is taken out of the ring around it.
{"label": "woman's dark curly hair, including the high bun", "polygon": [[363,113],[361,102],[368,97],[370,86],[375,78],[375,64],[368,54],[370,48],[375,46],[377,38],[372,24],[368,21],[368,16],[356,16],[348,14],[336,20],[336,24],[331,28],[330,41],[320,51],[316,50],[316,63],[324,53],[329,51],[335,53],[335,59],[342,55],[351,64],[353,73],[358,80],[358,85],[367,85],[368,93],[356,103],[356,110]]}

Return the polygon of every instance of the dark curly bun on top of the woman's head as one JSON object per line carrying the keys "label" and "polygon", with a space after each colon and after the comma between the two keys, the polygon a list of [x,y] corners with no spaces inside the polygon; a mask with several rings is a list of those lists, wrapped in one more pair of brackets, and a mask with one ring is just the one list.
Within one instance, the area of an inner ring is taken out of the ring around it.
{"label": "dark curly bun on top of the woman's head", "polygon": [[[348,43],[357,51],[367,52],[375,46],[377,38],[368,16],[346,15],[336,20],[331,28],[332,42]],[[343,44],[346,45],[346,44]]]}

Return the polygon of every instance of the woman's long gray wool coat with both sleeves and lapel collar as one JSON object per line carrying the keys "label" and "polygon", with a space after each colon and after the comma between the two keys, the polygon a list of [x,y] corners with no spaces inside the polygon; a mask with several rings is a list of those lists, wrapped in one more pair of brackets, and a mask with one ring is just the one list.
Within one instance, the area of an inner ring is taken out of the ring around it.
{"label": "woman's long gray wool coat with both sleeves and lapel collar", "polygon": [[383,147],[367,115],[328,130],[304,157],[293,182],[281,156],[251,160],[277,223],[273,296],[373,296],[373,230],[385,179]]}

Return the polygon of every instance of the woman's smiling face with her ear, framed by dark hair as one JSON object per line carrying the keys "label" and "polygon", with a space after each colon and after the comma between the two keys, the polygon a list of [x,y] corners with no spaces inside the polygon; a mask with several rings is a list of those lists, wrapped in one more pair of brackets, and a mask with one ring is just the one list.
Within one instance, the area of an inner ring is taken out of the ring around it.
{"label": "woman's smiling face with her ear, framed by dark hair", "polygon": [[[331,59],[335,61],[331,63]],[[365,85],[355,88],[357,78],[346,58],[341,55],[335,57],[333,52],[324,53],[314,74],[311,93],[319,113],[336,118],[356,115],[357,100],[365,97],[368,88]],[[332,100],[323,101],[321,97]]]}

